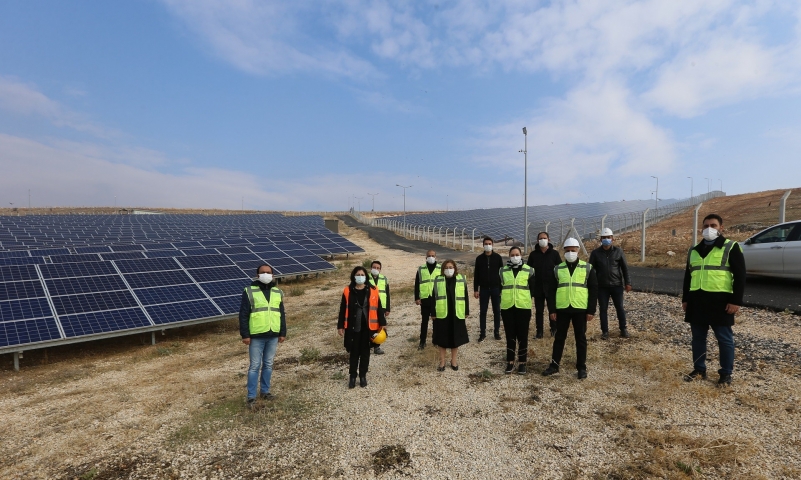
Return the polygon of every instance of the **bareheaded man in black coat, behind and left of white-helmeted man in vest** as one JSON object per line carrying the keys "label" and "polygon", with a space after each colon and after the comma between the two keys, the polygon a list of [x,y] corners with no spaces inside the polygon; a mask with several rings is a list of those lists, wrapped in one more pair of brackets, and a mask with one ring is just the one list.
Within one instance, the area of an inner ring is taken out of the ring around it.
{"label": "bareheaded man in black coat, behind and left of white-helmeted man in vest", "polygon": [[[526,264],[534,269],[534,321],[537,326],[537,338],[542,338],[544,328],[545,303],[548,303],[548,311],[553,313],[556,307],[551,304],[551,294],[556,289],[556,282],[553,276],[555,266],[562,263],[559,252],[553,248],[548,232],[537,234],[537,246],[528,255]],[[549,322],[551,336],[556,334],[556,322]]]}

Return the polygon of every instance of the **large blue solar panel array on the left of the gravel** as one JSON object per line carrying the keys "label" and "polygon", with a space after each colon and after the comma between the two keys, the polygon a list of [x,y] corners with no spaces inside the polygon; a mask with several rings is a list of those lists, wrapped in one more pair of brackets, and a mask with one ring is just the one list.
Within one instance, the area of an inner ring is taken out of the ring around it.
{"label": "large blue solar panel array on the left of the gravel", "polygon": [[[256,268],[362,251],[321,217],[0,217],[0,352],[236,314]],[[17,348],[20,347],[20,348]]]}

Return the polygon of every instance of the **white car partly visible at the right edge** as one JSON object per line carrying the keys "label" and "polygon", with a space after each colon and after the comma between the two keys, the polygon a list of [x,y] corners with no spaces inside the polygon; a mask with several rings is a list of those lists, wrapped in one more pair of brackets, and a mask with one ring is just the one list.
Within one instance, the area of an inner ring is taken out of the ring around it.
{"label": "white car partly visible at the right edge", "polygon": [[801,279],[801,221],[774,225],[740,246],[747,273]]}

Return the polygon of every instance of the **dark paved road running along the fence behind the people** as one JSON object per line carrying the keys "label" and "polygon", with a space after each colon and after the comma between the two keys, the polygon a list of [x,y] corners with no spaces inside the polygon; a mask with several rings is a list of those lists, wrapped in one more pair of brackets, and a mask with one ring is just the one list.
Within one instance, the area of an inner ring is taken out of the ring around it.
{"label": "dark paved road running along the fence behind the people", "polygon": [[[398,250],[419,253],[422,258],[425,251],[433,249],[440,260],[453,258],[457,262],[473,265],[478,253],[459,252],[436,243],[407,240],[389,230],[368,227],[349,215],[339,217],[346,225],[367,232],[376,242]],[[661,293],[677,296],[681,293],[684,270],[669,268],[631,267],[633,287],[637,291]],[[772,310],[790,309],[801,313],[801,282],[774,278],[748,277],[745,288],[745,305],[749,307],[769,308]]]}

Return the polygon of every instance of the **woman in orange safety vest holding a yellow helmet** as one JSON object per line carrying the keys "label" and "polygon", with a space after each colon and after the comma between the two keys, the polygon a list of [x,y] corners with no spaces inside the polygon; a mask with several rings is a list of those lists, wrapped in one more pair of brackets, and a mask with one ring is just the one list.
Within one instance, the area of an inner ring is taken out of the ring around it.
{"label": "woman in orange safety vest holding a yellow helmet", "polygon": [[367,386],[373,335],[387,324],[378,289],[367,283],[367,270],[356,267],[350,272],[350,284],[342,291],[337,333],[345,337],[345,350],[350,353],[348,388]]}

